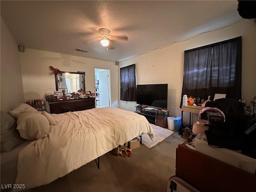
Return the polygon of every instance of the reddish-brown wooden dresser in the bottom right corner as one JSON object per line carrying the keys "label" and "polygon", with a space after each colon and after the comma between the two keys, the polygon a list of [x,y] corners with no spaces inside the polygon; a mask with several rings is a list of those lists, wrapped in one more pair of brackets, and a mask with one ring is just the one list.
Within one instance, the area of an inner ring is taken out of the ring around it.
{"label": "reddish-brown wooden dresser in the bottom right corner", "polygon": [[179,144],[176,176],[201,192],[256,191],[256,175]]}

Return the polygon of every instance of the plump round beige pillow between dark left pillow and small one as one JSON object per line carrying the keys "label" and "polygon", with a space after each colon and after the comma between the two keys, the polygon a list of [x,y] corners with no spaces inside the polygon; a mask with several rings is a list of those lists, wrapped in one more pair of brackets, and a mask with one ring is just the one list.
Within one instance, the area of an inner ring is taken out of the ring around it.
{"label": "plump round beige pillow between dark left pillow and small one", "polygon": [[47,118],[39,112],[20,112],[17,125],[20,137],[27,140],[44,138],[50,132]]}

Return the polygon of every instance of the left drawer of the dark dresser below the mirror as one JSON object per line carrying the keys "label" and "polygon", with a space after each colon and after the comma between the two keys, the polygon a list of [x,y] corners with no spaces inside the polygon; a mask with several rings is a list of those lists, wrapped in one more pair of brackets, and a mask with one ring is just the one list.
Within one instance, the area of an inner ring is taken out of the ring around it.
{"label": "left drawer of the dark dresser below the mirror", "polygon": [[56,102],[50,104],[50,113],[59,114],[75,110],[76,108],[74,102]]}

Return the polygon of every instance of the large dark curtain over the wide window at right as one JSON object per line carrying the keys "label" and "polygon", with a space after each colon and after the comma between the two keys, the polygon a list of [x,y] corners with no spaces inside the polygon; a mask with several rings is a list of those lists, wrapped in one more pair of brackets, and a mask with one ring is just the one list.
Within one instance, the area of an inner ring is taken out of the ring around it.
{"label": "large dark curtain over the wide window at right", "polygon": [[242,38],[210,44],[184,52],[182,97],[212,99],[215,93],[241,99]]}

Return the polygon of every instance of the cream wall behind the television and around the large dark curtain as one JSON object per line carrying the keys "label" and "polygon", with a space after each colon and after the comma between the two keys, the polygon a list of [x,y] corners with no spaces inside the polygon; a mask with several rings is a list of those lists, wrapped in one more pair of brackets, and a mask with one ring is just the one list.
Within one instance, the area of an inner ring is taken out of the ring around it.
{"label": "cream wall behind the television and around the large dark curtain", "polygon": [[[168,83],[169,115],[180,114],[180,99],[183,82],[184,50],[220,42],[237,36],[242,36],[242,100],[251,100],[256,96],[256,26],[252,20],[242,19],[232,26],[227,26],[213,32],[201,34],[183,42],[174,43],[168,47],[119,62],[120,68],[136,64],[137,84]],[[166,42],[168,44],[168,42]],[[119,78],[118,78],[119,79]],[[120,95],[120,84],[118,84]],[[212,96],[214,97],[214,96]],[[247,102],[248,104],[248,102]],[[120,108],[134,111],[136,102],[120,100]],[[185,115],[185,113],[184,113]],[[193,116],[194,121],[197,115]],[[188,122],[185,115],[184,120]]]}

